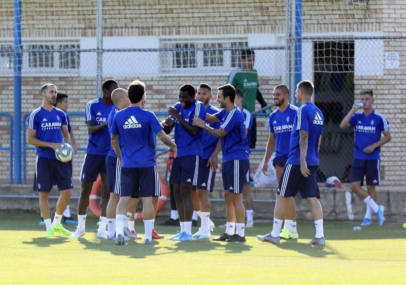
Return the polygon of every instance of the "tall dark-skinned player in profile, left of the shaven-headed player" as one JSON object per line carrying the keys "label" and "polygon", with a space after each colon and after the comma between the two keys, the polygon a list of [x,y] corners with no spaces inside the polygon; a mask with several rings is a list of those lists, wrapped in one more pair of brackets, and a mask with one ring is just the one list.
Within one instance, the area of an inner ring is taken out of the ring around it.
{"label": "tall dark-skinned player in profile, left of the shaven-headed player", "polygon": [[100,188],[100,224],[97,230],[98,238],[107,238],[106,208],[109,202],[107,190],[106,157],[110,150],[110,134],[108,117],[113,108],[111,93],[119,88],[116,81],[108,79],[103,82],[103,94],[89,101],[85,108],[85,122],[89,132],[86,154],[80,171],[81,191],[78,202],[78,227],[71,235],[79,238],[85,235],[86,213],[89,206],[89,196],[98,174],[101,177]]}

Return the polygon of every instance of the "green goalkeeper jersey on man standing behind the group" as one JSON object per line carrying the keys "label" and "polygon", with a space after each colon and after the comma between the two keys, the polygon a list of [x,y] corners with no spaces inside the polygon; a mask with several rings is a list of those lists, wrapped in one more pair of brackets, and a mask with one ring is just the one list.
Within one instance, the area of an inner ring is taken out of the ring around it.
{"label": "green goalkeeper jersey on man standing behind the group", "polygon": [[255,111],[255,101],[259,88],[258,72],[255,69],[245,70],[241,67],[235,69],[228,76],[228,83],[235,89],[243,91],[243,106],[251,113]]}

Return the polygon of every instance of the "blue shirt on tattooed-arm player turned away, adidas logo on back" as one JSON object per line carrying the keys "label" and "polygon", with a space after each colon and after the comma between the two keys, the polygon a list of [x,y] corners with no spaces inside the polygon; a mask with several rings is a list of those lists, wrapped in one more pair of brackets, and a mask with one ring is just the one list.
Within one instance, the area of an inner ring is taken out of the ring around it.
{"label": "blue shirt on tattooed-arm player turned away, adidas logo on back", "polygon": [[287,163],[300,165],[299,130],[309,132],[306,163],[309,166],[319,165],[319,138],[323,133],[324,116],[312,102],[304,103],[297,109],[290,136],[290,149]]}

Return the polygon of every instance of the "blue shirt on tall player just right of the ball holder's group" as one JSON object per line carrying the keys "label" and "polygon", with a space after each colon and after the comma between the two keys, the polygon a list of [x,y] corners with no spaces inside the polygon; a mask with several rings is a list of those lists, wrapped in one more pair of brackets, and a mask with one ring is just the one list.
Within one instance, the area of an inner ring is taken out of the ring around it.
{"label": "blue shirt on tall player just right of the ball holder's group", "polygon": [[[101,101],[101,97],[91,100],[86,104],[85,108],[85,123],[94,121],[96,125],[102,125],[107,122],[113,103],[105,105]],[[110,133],[109,128],[104,128],[95,134],[89,133],[86,153],[107,155],[110,150]]]}

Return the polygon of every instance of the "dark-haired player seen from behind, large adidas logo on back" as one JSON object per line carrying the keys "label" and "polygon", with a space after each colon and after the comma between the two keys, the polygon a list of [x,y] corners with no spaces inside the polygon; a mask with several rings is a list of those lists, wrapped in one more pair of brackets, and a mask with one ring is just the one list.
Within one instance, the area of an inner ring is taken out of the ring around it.
{"label": "dark-haired player seen from behind, large adidas logo on back", "polygon": [[163,127],[155,114],[142,109],[145,84],[136,80],[128,86],[127,90],[131,105],[116,113],[111,128],[111,144],[121,161],[121,192],[116,211],[116,243],[124,244],[128,201],[131,196],[136,196],[143,202],[144,244],[151,244],[155,221],[152,196],[159,196],[161,192],[155,161],[154,133],[166,146],[173,149],[175,157],[177,147],[163,132]]}

